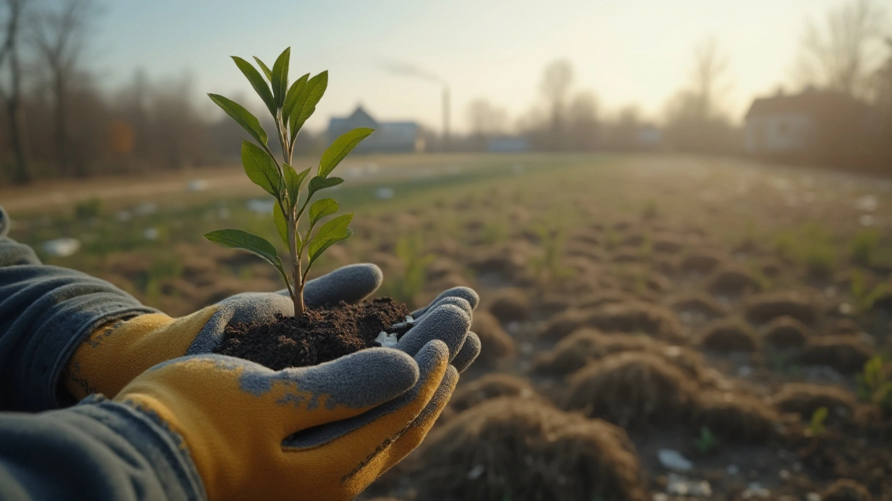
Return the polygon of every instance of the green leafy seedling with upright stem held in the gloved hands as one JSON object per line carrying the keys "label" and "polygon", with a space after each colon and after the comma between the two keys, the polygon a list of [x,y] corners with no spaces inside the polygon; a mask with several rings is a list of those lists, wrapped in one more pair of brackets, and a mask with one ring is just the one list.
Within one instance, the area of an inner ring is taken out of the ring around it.
{"label": "green leafy seedling with upright stem held in the gloved hands", "polygon": [[[208,94],[211,101],[235,119],[254,142],[242,141],[242,165],[244,173],[255,185],[276,198],[272,218],[279,237],[288,246],[288,259],[284,265],[276,247],[267,240],[242,230],[217,230],[205,234],[208,240],[231,249],[246,250],[276,267],[285,280],[288,293],[294,303],[294,315],[301,316],[305,309],[303,289],[310,267],[329,247],[353,234],[349,228],[353,214],[343,214],[329,219],[313,234],[313,229],[323,218],[337,213],[339,206],[333,198],[314,201],[313,196],[325,189],[343,183],[340,177],[329,176],[332,170],[374,129],[354,128],[344,133],[322,153],[316,174],[310,168],[298,172],[292,166],[294,141],[301,127],[316,111],[316,105],[328,86],[328,72],[323,71],[310,78],[310,73],[288,84],[288,63],[291,48],[285,49],[273,64],[272,70],[260,59],[254,61],[262,74],[250,62],[233,56],[233,61],[251,82],[254,91],[266,105],[276,123],[276,140],[281,160],[269,149],[267,132],[260,121],[241,104],[219,94]],[[309,208],[309,210],[308,210]],[[306,215],[303,231],[301,218]]]}

